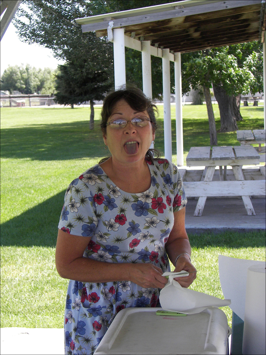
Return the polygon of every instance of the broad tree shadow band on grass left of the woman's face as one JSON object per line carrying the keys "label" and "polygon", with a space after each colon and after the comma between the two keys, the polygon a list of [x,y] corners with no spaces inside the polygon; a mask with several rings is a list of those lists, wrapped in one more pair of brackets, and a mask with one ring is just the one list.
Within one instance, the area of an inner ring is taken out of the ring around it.
{"label": "broad tree shadow band on grass left of the woman's face", "polygon": [[1,129],[1,158],[65,160],[104,156],[98,125],[84,121]]}

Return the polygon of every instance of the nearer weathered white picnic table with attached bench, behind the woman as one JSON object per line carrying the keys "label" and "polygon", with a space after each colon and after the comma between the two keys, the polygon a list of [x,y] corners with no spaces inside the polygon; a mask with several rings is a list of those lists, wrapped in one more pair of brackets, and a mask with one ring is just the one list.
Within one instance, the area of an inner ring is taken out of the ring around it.
{"label": "nearer weathered white picnic table with attached bench, behind the woman", "polygon": [[[201,181],[184,182],[187,197],[199,197],[194,216],[201,216],[207,197],[241,196],[248,215],[255,215],[250,196],[265,195],[265,180],[245,180],[242,166],[257,165],[260,156],[252,146],[191,147],[187,166],[205,166]],[[227,181],[231,165],[235,181]],[[220,181],[212,181],[219,166]]]}

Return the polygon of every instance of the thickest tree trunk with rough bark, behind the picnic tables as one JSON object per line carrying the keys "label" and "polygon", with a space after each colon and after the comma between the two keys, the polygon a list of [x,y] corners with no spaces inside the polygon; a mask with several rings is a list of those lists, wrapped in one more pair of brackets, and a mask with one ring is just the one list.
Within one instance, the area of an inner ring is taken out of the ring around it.
{"label": "thickest tree trunk with rough bark, behind the picnic tables", "polygon": [[220,132],[233,132],[238,130],[237,120],[234,114],[235,97],[227,95],[222,86],[212,84],[212,87],[214,88],[214,96],[220,110]]}

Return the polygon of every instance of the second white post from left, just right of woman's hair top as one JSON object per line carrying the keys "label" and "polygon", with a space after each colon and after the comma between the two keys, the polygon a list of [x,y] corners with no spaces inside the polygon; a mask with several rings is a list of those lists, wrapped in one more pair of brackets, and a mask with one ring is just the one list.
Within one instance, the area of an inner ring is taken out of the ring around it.
{"label": "second white post from left, just right of woman's hair top", "polygon": [[153,92],[151,88],[151,59],[150,59],[150,41],[142,41],[141,43],[141,55],[142,55],[142,83],[143,92],[149,97],[153,98]]}

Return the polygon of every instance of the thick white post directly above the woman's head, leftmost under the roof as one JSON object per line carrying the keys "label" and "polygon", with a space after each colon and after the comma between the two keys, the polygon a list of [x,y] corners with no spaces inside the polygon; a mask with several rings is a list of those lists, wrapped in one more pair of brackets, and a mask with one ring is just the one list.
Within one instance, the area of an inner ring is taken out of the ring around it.
{"label": "thick white post directly above the woman's head, leftmost under the roof", "polygon": [[115,89],[126,84],[126,60],[124,28],[113,28],[113,65],[115,69]]}

